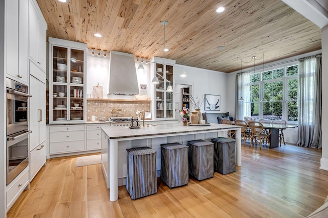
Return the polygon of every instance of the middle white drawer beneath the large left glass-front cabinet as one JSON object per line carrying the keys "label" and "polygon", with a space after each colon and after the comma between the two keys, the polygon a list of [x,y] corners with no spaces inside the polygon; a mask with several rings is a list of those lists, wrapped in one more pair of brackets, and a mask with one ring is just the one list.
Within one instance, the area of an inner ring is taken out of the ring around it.
{"label": "middle white drawer beneath the large left glass-front cabinet", "polygon": [[67,142],[85,140],[85,131],[66,131],[66,132],[50,132],[49,141],[52,142]]}

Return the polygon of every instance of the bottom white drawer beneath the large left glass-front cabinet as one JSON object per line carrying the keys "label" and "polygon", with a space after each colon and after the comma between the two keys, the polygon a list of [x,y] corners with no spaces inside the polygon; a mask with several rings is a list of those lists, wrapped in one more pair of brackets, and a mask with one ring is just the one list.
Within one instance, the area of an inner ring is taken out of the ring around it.
{"label": "bottom white drawer beneath the large left glass-front cabinet", "polygon": [[50,143],[50,154],[69,153],[85,150],[85,140],[67,141],[67,142],[52,142]]}

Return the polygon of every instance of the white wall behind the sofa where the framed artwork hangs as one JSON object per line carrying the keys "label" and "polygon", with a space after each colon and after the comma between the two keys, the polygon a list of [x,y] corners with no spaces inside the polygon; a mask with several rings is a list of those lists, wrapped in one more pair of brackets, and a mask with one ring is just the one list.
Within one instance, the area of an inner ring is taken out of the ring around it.
{"label": "white wall behind the sofa where the framed artwork hangs", "polygon": [[[227,86],[228,74],[208,69],[201,69],[185,65],[175,65],[182,68],[186,72],[187,77],[180,77],[180,71],[175,71],[174,79],[175,84],[193,84],[192,95],[194,98],[204,98],[204,94],[216,94],[221,97],[221,110],[215,112],[228,112],[230,109],[230,101],[227,99],[227,93],[231,91]],[[234,88],[234,87],[232,87]],[[214,113],[214,111],[205,111],[204,104],[201,105],[200,111]],[[230,111],[229,111],[230,112]]]}

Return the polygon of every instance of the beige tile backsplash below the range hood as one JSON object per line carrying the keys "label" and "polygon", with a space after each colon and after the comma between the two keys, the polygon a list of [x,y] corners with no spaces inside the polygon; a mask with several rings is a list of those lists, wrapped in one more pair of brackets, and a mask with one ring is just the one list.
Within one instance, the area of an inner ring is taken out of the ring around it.
{"label": "beige tile backsplash below the range hood", "polygon": [[[136,111],[150,112],[150,104],[149,101],[87,100],[87,121],[91,121],[92,115],[96,116],[96,120],[100,118],[108,120],[109,117],[114,116],[136,117]],[[122,109],[122,111],[111,113],[113,109]]]}

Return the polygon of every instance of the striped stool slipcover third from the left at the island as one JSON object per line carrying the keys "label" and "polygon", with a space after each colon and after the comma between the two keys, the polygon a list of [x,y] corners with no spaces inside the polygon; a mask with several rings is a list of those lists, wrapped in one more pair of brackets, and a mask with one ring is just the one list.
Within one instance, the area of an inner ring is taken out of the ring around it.
{"label": "striped stool slipcover third from the left at the island", "polygon": [[189,174],[198,180],[214,176],[213,145],[204,140],[188,141]]}

